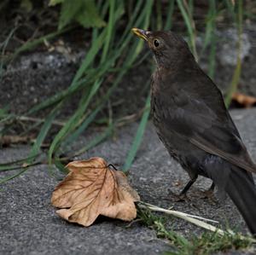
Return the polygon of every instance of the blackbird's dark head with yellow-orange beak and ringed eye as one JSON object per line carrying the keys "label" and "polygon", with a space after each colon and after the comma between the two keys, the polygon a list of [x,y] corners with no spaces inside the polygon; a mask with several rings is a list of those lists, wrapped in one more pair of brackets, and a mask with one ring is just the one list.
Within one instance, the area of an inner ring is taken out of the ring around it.
{"label": "blackbird's dark head with yellow-orange beak and ringed eye", "polygon": [[188,44],[183,38],[173,32],[150,32],[138,28],[132,28],[132,32],[148,43],[148,47],[153,51],[159,67],[177,67],[179,64],[190,59],[191,56],[193,58]]}

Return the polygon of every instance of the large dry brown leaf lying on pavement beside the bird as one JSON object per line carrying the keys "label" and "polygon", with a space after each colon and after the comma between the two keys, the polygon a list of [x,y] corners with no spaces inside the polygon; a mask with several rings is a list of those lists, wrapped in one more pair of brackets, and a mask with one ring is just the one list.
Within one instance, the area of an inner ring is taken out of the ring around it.
{"label": "large dry brown leaf lying on pavement beside the bird", "polygon": [[100,214],[131,221],[137,216],[137,192],[122,171],[108,167],[102,158],[73,161],[67,177],[56,186],[51,203],[56,213],[72,223],[90,226]]}

